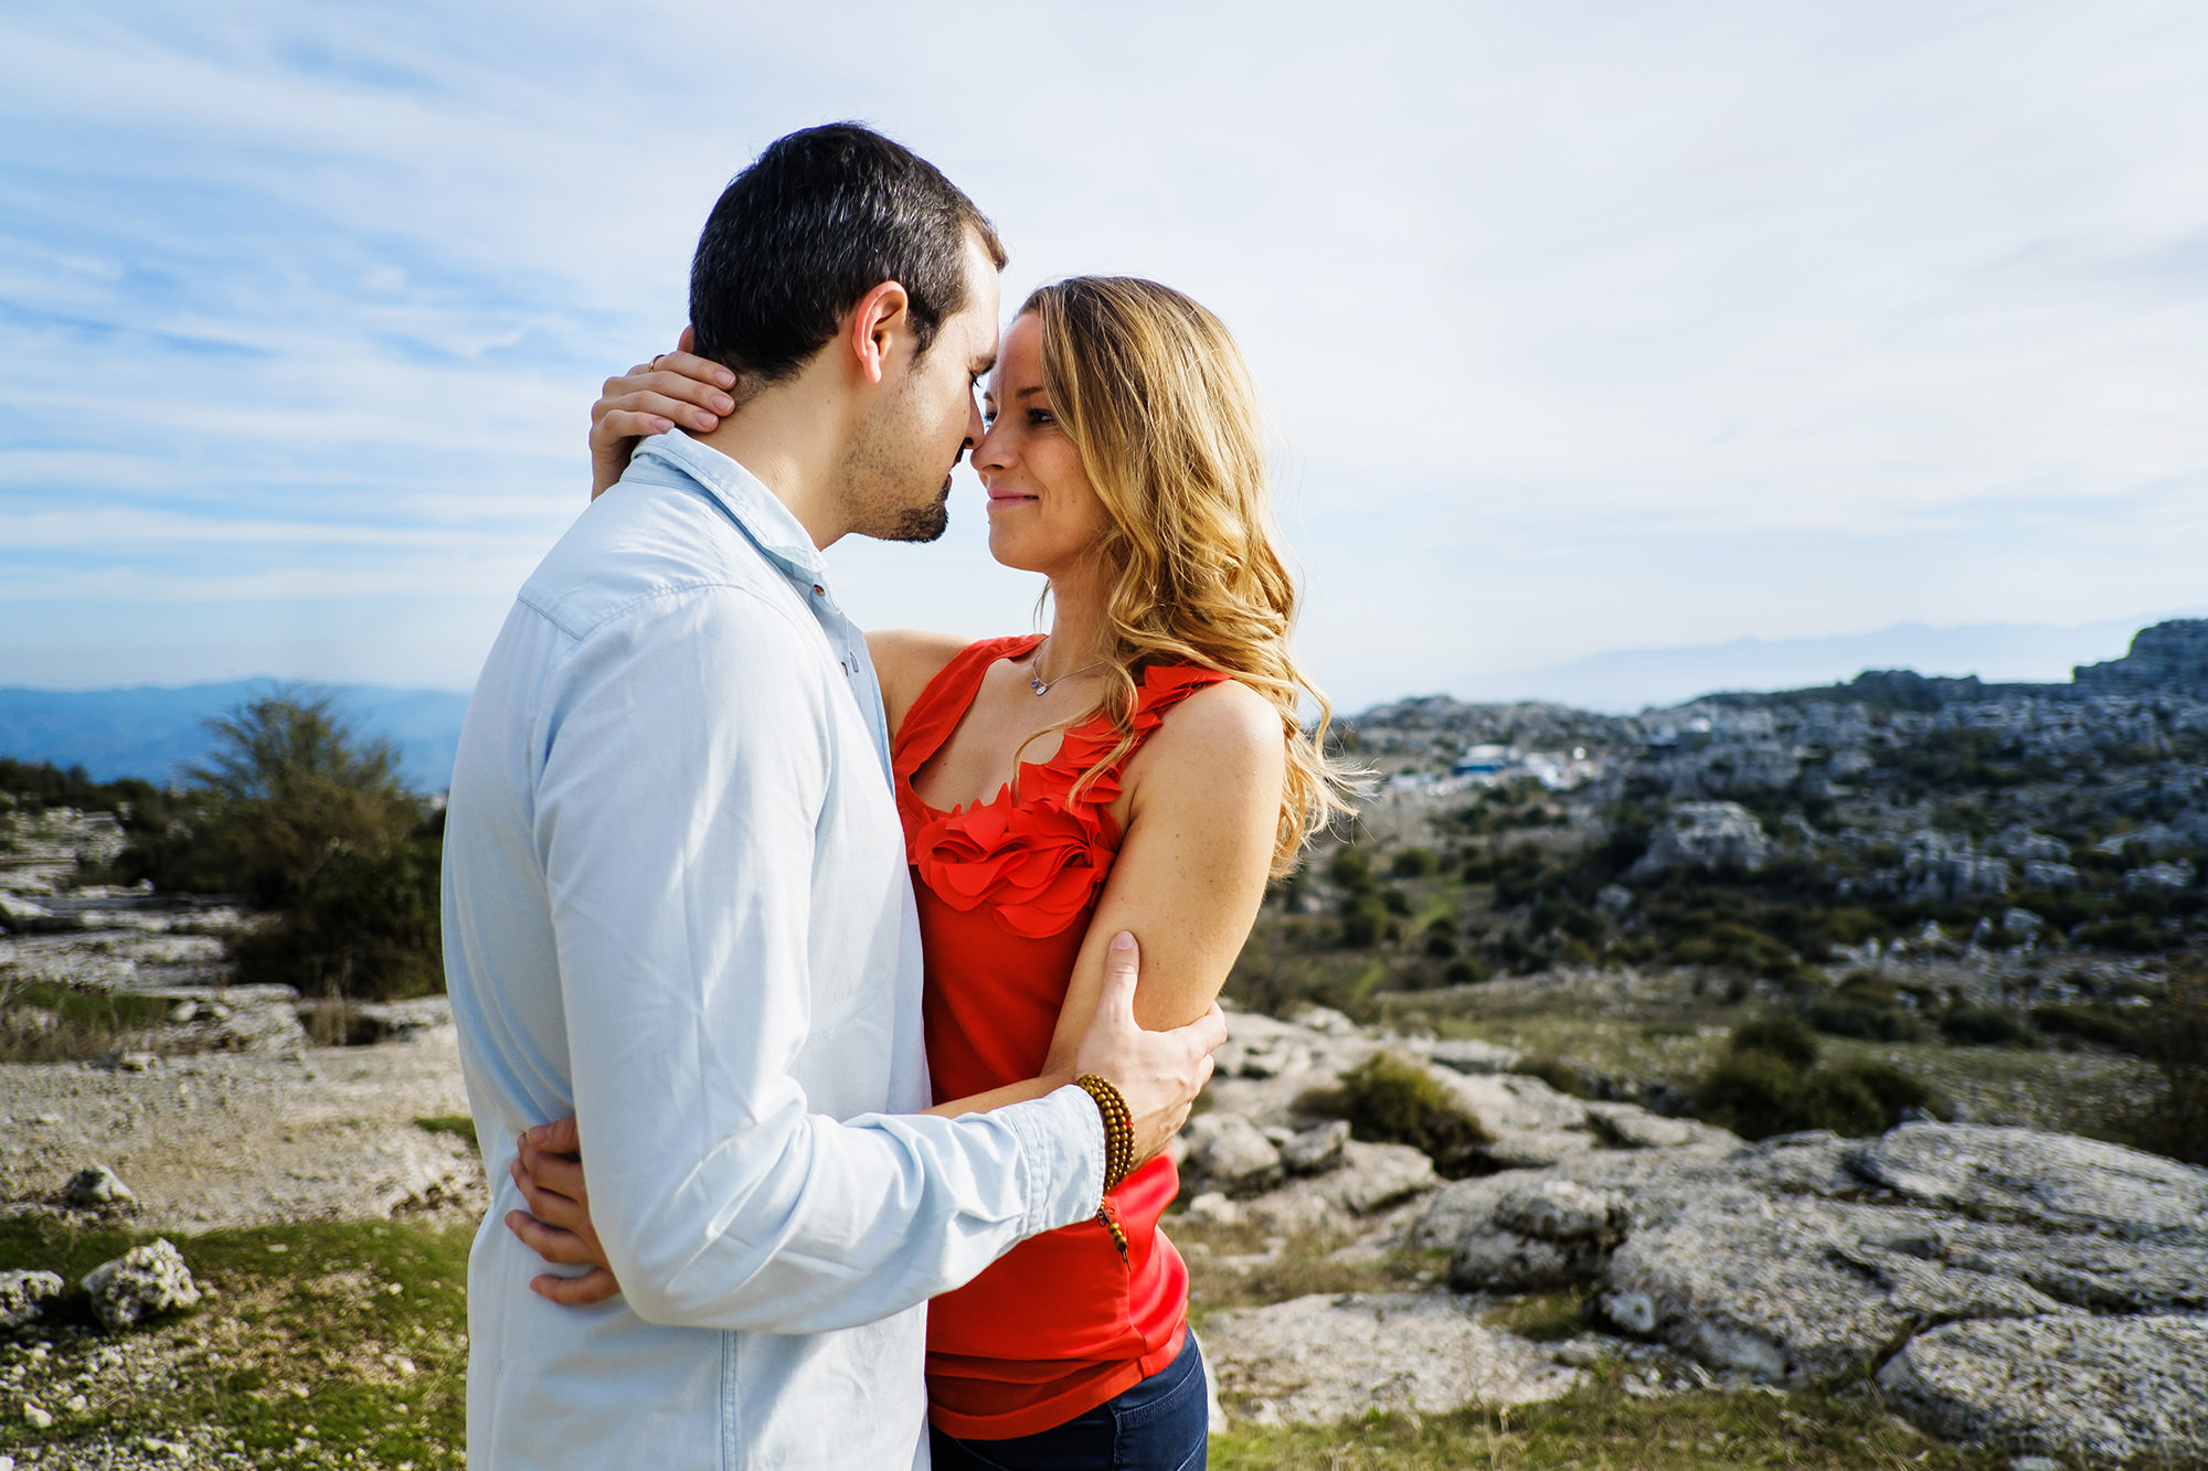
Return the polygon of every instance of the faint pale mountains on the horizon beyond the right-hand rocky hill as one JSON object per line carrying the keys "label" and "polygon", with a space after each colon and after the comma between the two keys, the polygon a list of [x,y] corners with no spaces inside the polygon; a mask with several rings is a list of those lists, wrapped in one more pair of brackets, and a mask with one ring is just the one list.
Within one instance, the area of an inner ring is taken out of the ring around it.
{"label": "faint pale mountains on the horizon beyond the right-hand rocky hill", "polygon": [[[2204,610],[2208,612],[2208,610]],[[2173,614],[2186,616],[2186,614]],[[2076,665],[2117,658],[2131,636],[2157,618],[1981,623],[1928,627],[1901,623],[1839,638],[1735,638],[1676,649],[1614,649],[1552,669],[1457,680],[1464,700],[1548,700],[1607,716],[1685,705],[1718,691],[1775,691],[1839,685],[1866,669],[1978,676],[1994,682],[2067,682]]]}

